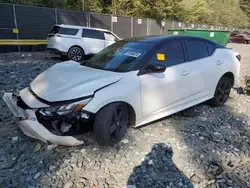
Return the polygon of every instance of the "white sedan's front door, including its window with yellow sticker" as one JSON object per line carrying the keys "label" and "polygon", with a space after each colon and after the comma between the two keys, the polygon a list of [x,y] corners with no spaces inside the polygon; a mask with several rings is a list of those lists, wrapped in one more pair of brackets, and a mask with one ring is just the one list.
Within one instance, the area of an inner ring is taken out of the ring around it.
{"label": "white sedan's front door, including its window with yellow sticker", "polygon": [[186,62],[182,41],[170,41],[156,50],[148,61],[148,64],[155,63],[164,64],[165,72],[139,76],[144,118],[175,111],[190,102],[192,70]]}

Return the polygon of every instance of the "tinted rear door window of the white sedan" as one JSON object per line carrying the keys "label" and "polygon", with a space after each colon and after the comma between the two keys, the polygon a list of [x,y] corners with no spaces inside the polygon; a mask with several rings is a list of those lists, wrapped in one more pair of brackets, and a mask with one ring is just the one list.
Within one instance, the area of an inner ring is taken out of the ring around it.
{"label": "tinted rear door window of the white sedan", "polygon": [[189,61],[209,56],[206,43],[202,40],[186,40]]}

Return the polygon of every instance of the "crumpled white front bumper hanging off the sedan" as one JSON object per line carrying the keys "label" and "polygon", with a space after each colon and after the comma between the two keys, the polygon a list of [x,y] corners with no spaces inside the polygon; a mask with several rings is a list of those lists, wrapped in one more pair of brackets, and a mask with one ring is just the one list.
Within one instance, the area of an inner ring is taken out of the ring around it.
{"label": "crumpled white front bumper hanging off the sedan", "polygon": [[4,93],[3,100],[10,109],[10,111],[17,117],[18,124],[29,137],[39,139],[45,143],[53,143],[65,146],[78,146],[83,144],[83,141],[77,140],[72,136],[58,136],[52,134],[36,118],[35,111],[32,109],[22,109],[17,106],[15,96],[12,93]]}

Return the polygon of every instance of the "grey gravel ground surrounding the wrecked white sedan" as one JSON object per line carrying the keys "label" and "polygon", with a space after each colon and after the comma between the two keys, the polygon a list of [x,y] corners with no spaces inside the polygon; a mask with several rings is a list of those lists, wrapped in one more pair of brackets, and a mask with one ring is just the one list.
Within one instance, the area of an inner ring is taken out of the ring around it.
{"label": "grey gravel ground surrounding the wrecked white sedan", "polygon": [[[242,82],[250,46],[229,47],[242,55]],[[43,52],[0,54],[0,95],[57,62]],[[0,187],[250,187],[250,96],[235,90],[224,107],[202,104],[130,129],[115,147],[86,133],[84,146],[53,148],[25,136],[2,99],[0,108]]]}

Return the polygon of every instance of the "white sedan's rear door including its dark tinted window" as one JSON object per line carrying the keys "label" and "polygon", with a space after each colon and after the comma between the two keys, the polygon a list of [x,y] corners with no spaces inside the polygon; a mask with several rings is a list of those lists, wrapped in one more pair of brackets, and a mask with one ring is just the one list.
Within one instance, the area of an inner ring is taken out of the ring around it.
{"label": "white sedan's rear door including its dark tinted window", "polygon": [[216,55],[215,46],[206,40],[185,39],[185,46],[192,69],[192,100],[213,96],[214,86],[221,76],[220,65],[224,63],[223,60]]}

